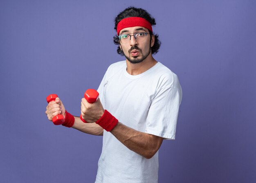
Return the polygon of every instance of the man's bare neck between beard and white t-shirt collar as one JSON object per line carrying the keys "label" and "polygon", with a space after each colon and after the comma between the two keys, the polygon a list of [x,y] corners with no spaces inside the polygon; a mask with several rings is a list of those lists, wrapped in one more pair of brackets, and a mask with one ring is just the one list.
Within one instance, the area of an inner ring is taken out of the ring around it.
{"label": "man's bare neck between beard and white t-shirt collar", "polygon": [[144,73],[154,65],[156,65],[157,61],[153,58],[152,55],[149,55],[145,60],[140,63],[132,64],[126,59],[127,72],[130,75],[138,75]]}

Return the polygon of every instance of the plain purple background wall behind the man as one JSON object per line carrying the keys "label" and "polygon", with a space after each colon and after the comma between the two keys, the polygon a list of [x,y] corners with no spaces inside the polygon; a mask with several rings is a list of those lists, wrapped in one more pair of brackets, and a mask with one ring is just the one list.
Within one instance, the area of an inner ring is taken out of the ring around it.
{"label": "plain purple background wall behind the man", "polygon": [[155,58],[183,89],[176,140],[159,150],[159,183],[256,182],[254,0],[1,0],[1,182],[94,182],[102,137],[54,126],[45,98],[57,93],[79,116],[85,89],[124,60],[113,21],[130,5],[156,18]]}

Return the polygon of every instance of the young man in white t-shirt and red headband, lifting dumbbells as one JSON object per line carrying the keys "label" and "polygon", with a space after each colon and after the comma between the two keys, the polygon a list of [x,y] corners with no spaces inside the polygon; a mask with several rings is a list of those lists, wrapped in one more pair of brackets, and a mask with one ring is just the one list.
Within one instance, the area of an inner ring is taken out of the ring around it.
{"label": "young man in white t-shirt and red headband, lifting dumbbells", "polygon": [[87,123],[66,112],[59,98],[47,105],[50,121],[63,114],[64,126],[103,135],[96,183],[157,183],[159,147],[163,139],[175,139],[182,89],[177,76],[152,56],[160,47],[152,25],[155,19],[135,7],[115,18],[114,42],[126,60],[110,65],[97,102],[82,99]]}

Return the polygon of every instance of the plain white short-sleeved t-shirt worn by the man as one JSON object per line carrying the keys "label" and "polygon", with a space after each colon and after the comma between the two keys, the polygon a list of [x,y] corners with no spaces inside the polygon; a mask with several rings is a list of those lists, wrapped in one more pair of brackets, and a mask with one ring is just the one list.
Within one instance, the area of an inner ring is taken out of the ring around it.
{"label": "plain white short-sleeved t-shirt worn by the man", "polygon": [[[124,125],[175,139],[182,89],[177,75],[160,62],[135,76],[127,73],[126,61],[114,63],[106,71],[98,92],[104,109]],[[158,152],[146,159],[104,130],[96,183],[157,181]]]}

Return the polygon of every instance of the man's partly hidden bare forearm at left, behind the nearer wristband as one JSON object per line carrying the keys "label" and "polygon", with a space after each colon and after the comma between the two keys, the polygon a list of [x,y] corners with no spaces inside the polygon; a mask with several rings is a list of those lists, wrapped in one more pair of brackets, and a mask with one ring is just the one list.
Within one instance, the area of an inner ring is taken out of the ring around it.
{"label": "man's partly hidden bare forearm at left, behind the nearer wristband", "polygon": [[72,128],[77,129],[86,134],[103,135],[103,128],[96,123],[83,123],[80,117],[74,116],[75,122]]}

